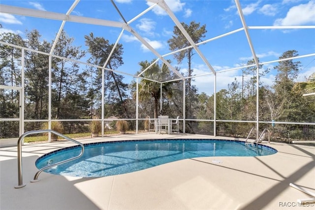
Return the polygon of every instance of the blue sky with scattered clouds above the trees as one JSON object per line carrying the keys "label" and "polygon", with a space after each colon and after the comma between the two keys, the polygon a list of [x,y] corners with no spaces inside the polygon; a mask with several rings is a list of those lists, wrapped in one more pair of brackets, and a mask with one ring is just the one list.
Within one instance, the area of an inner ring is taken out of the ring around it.
{"label": "blue sky with scattered clouds above the trees", "polygon": [[[152,3],[145,0],[114,0],[126,21],[133,19],[147,9]],[[207,40],[218,35],[223,35],[243,27],[237,8],[233,0],[165,0],[170,9],[180,22],[189,24],[196,21],[200,25],[206,24]],[[1,4],[32,8],[42,11],[66,13],[72,5],[72,0],[1,0]],[[240,0],[247,26],[314,26],[315,25],[315,0]],[[81,0],[72,11],[71,15],[85,16],[123,22],[110,0]],[[0,24],[3,32],[19,33],[24,36],[26,30],[37,29],[43,39],[53,40],[58,32],[61,21],[25,17],[20,15],[0,13]],[[171,38],[174,22],[170,17],[155,6],[143,16],[136,19],[130,26],[150,43],[160,55],[170,52],[167,40]],[[75,45],[84,45],[84,35],[91,32],[95,36],[103,36],[111,43],[115,43],[121,28],[87,25],[66,22],[64,30],[68,35],[75,37]],[[297,50],[299,55],[315,53],[315,29],[263,29],[249,30],[255,53],[261,62],[274,61],[287,50]],[[151,61],[156,56],[150,52],[132,34],[125,31],[120,43],[124,46],[124,65],[118,70],[134,74],[139,70],[138,63],[143,60]],[[225,36],[199,46],[209,63],[216,71],[231,69],[247,63],[252,59],[251,49],[244,31]],[[172,64],[177,62],[172,56]],[[295,61],[295,60],[294,60]],[[315,56],[299,59],[302,63],[298,80],[315,72]],[[278,63],[264,65],[271,72],[262,78],[264,84],[272,85],[276,71],[274,66]],[[181,71],[187,69],[184,61],[179,64]],[[205,63],[194,55],[192,60],[194,74],[202,75],[211,72]],[[241,82],[239,70],[226,71],[217,74],[218,90],[227,88],[227,84],[237,78]],[[125,76],[126,82],[132,77]],[[199,92],[213,94],[213,75],[199,76],[194,84]]]}

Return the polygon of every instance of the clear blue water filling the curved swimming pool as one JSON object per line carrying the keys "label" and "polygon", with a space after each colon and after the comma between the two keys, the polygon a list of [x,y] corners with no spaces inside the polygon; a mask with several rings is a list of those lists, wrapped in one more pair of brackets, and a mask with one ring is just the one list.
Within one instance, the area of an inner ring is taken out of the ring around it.
{"label": "clear blue water filling the curved swimming pool", "polygon": [[[36,160],[41,169],[79,155],[80,146],[73,146],[43,155]],[[79,159],[45,170],[55,175],[101,177],[135,172],[161,164],[195,157],[262,156],[276,149],[256,145],[245,146],[235,140],[133,140],[85,144]]]}

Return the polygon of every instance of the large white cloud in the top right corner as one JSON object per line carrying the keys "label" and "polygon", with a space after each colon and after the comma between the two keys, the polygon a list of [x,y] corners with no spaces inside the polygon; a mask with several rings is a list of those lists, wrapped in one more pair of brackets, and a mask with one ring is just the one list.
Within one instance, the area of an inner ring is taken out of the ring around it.
{"label": "large white cloud in the top right corner", "polygon": [[274,22],[275,26],[295,26],[315,23],[315,0],[306,4],[293,6],[287,12],[285,18],[279,18]]}

